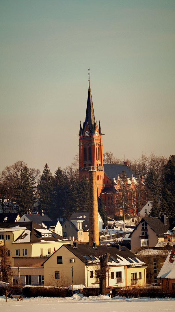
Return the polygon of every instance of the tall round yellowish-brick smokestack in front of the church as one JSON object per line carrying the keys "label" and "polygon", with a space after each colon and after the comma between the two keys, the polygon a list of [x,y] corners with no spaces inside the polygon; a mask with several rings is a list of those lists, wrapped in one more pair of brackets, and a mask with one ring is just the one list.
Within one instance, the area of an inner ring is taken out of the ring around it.
{"label": "tall round yellowish-brick smokestack in front of the church", "polygon": [[96,170],[89,171],[89,245],[99,245],[99,222]]}

